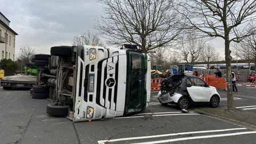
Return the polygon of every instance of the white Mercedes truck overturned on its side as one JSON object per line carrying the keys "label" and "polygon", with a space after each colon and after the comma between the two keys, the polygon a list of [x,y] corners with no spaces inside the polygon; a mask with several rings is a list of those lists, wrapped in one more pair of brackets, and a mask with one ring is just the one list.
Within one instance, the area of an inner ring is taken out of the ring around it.
{"label": "white Mercedes truck overturned on its side", "polygon": [[149,104],[150,58],[137,50],[54,46],[35,63],[33,97],[49,95],[50,115],[90,121],[139,113]]}

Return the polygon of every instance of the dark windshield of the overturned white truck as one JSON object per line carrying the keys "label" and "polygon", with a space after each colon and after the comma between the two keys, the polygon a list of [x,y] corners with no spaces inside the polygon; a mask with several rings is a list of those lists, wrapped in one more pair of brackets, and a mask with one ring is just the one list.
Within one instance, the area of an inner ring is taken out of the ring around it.
{"label": "dark windshield of the overturned white truck", "polygon": [[145,105],[145,63],[141,53],[129,52],[127,56],[129,68],[127,70],[126,106],[127,114],[132,114],[142,110]]}

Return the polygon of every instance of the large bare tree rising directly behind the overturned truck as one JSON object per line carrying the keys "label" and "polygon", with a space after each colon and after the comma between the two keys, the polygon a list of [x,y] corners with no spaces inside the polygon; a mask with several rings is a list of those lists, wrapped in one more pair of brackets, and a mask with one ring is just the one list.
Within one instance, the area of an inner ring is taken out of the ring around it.
{"label": "large bare tree rising directly behind the overturned truck", "polygon": [[182,21],[172,9],[173,0],[99,0],[104,5],[100,30],[110,44],[136,44],[148,53],[172,43]]}

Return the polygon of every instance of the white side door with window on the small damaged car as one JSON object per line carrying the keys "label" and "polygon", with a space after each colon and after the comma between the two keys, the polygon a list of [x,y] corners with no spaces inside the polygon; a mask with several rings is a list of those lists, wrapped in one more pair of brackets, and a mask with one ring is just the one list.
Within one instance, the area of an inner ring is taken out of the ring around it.
{"label": "white side door with window on the small damaged car", "polygon": [[210,99],[209,86],[201,78],[189,77],[188,81],[191,82],[191,86],[187,87],[187,90],[193,101],[206,102]]}

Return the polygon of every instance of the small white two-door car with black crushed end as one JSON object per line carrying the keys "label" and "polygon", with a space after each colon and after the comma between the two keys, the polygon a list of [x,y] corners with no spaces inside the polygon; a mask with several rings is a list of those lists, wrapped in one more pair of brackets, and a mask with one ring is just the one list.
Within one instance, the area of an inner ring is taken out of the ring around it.
{"label": "small white two-door car with black crushed end", "polygon": [[187,109],[191,103],[202,102],[215,108],[219,106],[220,94],[199,77],[174,75],[161,82],[158,100],[162,105],[175,103],[179,109]]}

